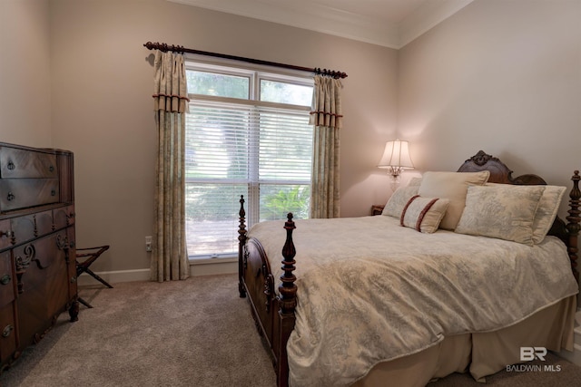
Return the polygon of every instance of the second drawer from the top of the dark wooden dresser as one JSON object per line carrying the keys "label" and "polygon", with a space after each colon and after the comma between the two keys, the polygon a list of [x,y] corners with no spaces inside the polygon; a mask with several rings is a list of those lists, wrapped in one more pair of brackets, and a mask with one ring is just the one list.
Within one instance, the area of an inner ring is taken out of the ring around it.
{"label": "second drawer from the top of the dark wooden dresser", "polygon": [[42,206],[58,201],[58,179],[0,179],[2,211]]}

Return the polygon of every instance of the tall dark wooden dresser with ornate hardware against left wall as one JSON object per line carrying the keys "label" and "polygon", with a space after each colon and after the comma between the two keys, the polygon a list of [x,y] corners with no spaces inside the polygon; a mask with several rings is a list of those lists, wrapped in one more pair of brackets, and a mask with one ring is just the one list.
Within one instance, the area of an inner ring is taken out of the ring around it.
{"label": "tall dark wooden dresser with ornate hardware against left wall", "polygon": [[77,298],[73,153],[0,142],[0,372]]}

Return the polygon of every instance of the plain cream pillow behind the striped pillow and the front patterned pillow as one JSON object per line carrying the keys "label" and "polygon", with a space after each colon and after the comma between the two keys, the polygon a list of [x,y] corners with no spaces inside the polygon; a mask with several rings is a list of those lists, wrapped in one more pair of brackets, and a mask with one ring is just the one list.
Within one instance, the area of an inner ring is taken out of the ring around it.
{"label": "plain cream pillow behind the striped pillow and the front patterned pillow", "polygon": [[448,198],[448,211],[442,218],[440,228],[453,230],[458,225],[466,201],[468,186],[481,186],[487,182],[490,172],[426,172],[419,185],[419,196],[426,198]]}

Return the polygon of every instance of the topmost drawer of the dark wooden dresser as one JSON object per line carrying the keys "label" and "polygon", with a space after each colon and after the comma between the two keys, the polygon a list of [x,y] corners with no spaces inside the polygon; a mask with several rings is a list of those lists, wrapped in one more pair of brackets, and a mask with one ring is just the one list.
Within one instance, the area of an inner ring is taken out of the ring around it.
{"label": "topmost drawer of the dark wooden dresser", "polygon": [[56,179],[56,155],[18,148],[0,148],[2,179]]}

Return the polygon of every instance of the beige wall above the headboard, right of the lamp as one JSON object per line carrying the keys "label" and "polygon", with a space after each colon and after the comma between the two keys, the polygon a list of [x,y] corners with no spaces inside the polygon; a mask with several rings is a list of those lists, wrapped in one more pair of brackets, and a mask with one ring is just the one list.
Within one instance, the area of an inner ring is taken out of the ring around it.
{"label": "beige wall above the headboard, right of the lamp", "polygon": [[453,170],[485,150],[514,176],[570,187],[581,169],[579,20],[579,0],[477,0],[399,50],[399,135],[419,169]]}

